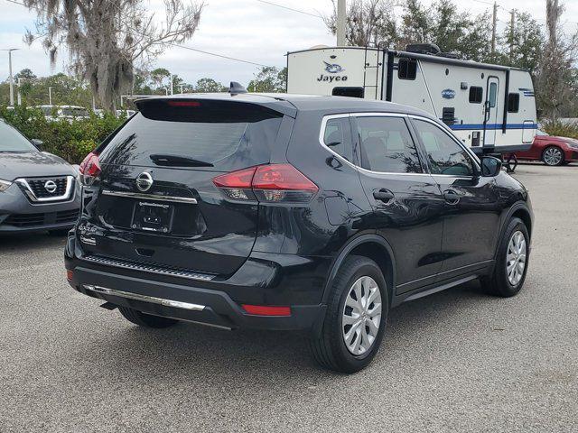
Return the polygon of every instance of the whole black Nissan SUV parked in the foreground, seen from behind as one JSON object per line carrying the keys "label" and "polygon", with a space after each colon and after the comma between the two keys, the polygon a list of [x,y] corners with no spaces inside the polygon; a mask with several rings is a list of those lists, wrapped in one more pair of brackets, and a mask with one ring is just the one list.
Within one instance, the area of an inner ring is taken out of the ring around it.
{"label": "whole black Nissan SUV parked in the foreground, seen from behind", "polygon": [[283,94],[136,105],[81,165],[65,259],[74,289],[137,325],[306,330],[350,373],[401,302],[524,283],[527,190],[431,115]]}

